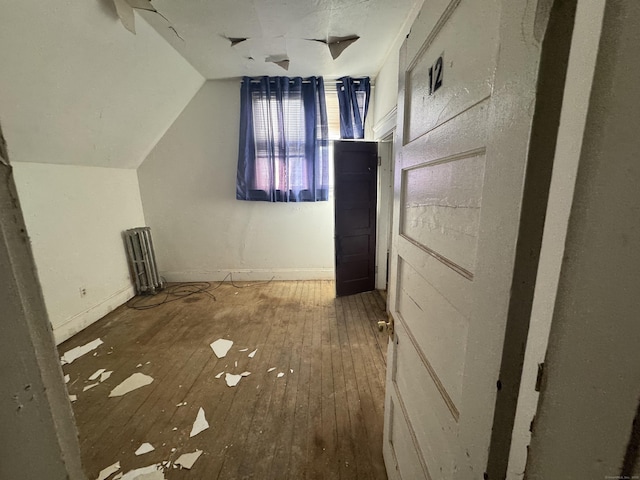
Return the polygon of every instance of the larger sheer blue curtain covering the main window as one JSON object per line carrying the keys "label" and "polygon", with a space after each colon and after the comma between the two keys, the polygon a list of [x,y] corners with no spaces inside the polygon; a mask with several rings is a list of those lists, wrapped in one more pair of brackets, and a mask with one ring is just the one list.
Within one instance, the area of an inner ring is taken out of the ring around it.
{"label": "larger sheer blue curtain covering the main window", "polygon": [[322,77],[244,77],[236,198],[329,198],[329,134]]}

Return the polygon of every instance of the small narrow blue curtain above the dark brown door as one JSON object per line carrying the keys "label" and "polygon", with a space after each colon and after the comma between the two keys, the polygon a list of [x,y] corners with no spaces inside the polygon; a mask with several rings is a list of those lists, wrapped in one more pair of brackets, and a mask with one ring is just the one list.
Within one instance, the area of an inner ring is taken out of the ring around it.
{"label": "small narrow blue curtain above the dark brown door", "polygon": [[340,137],[364,138],[364,121],[369,110],[369,77],[342,77],[336,84],[340,105]]}

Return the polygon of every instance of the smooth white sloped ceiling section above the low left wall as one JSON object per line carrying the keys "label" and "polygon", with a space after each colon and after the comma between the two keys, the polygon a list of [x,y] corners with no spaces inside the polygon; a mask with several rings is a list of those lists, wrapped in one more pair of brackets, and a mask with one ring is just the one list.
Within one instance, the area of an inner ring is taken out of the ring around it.
{"label": "smooth white sloped ceiling section above the low left wall", "polygon": [[13,162],[135,168],[203,77],[109,0],[2,2],[0,117]]}

